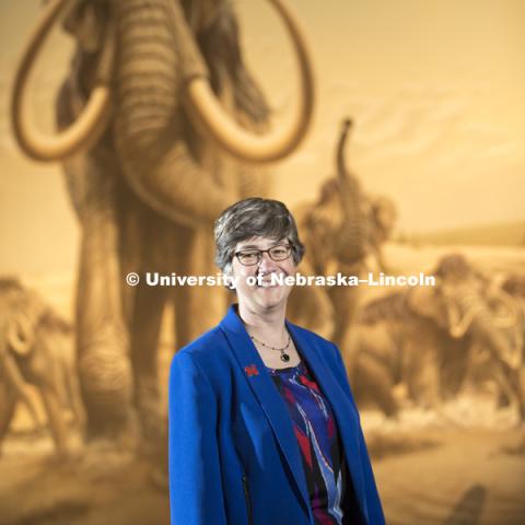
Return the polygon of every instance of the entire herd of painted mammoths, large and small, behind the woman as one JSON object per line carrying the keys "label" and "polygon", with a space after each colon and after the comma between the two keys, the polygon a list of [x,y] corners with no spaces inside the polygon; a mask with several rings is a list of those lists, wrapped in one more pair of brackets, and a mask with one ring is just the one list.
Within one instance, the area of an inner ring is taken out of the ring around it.
{"label": "entire herd of painted mammoths, large and small, behind the woman", "polygon": [[[19,401],[39,424],[33,385],[58,451],[69,446],[68,410],[88,441],[139,443],[155,455],[164,448],[158,350],[166,305],[179,348],[217,323],[231,298],[226,290],[129,287],[125,276],[215,273],[213,220],[241,198],[271,195],[270,163],[302,143],[315,102],[308,46],[291,10],[269,3],[299,72],[294,113],[280,127],[246,66],[233,2],[46,2],[16,70],[11,117],[21,150],[60,161],[66,173],[80,226],[74,328],[19,281],[0,281],[0,443]],[[43,136],[27,116],[27,79],[58,21],[75,52],[56,102],[59,132]],[[351,127],[343,119],[335,174],[294,210],[306,246],[302,273],[385,269],[396,208],[368,195],[349,168]],[[335,340],[358,399],[372,393],[389,417],[400,408],[396,385],[436,408],[466,381],[488,377],[523,420],[520,276],[492,285],[460,256],[435,270],[435,289],[364,306],[351,287],[298,288],[291,320]]]}

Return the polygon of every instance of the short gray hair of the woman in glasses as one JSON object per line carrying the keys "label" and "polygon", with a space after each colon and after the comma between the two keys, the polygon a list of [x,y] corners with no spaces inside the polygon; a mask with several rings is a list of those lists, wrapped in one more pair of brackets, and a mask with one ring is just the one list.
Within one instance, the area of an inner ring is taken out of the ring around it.
{"label": "short gray hair of the woman in glasses", "polygon": [[292,257],[299,265],[304,255],[293,215],[279,200],[250,197],[226,208],[215,221],[215,265],[229,273],[235,246],[241,241],[264,236],[279,241],[288,238]]}

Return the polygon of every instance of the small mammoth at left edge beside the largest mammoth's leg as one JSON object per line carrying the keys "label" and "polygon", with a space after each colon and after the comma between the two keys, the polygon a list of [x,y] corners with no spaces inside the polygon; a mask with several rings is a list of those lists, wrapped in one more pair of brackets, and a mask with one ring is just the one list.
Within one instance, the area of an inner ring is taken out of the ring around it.
{"label": "small mammoth at left edge beside the largest mammoth's leg", "polygon": [[33,291],[0,279],[0,445],[19,401],[38,425],[26,385],[38,389],[58,453],[69,448],[65,409],[84,424],[71,328]]}

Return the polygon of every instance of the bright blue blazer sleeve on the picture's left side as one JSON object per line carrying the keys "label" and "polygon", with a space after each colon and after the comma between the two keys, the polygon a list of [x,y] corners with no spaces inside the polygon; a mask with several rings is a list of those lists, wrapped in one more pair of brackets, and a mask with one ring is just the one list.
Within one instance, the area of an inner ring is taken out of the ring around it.
{"label": "bright blue blazer sleeve on the picture's left side", "polygon": [[217,415],[210,382],[191,354],[175,354],[168,384],[172,525],[226,525]]}

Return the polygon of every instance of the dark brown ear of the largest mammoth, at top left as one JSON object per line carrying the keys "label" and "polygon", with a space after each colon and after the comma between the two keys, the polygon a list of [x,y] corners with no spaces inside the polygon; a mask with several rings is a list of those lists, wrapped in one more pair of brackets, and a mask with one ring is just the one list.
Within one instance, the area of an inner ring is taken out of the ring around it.
{"label": "dark brown ear of the largest mammoth, at top left", "polygon": [[62,23],[63,28],[77,37],[84,52],[93,54],[104,42],[104,18],[107,14],[101,1],[77,0]]}

